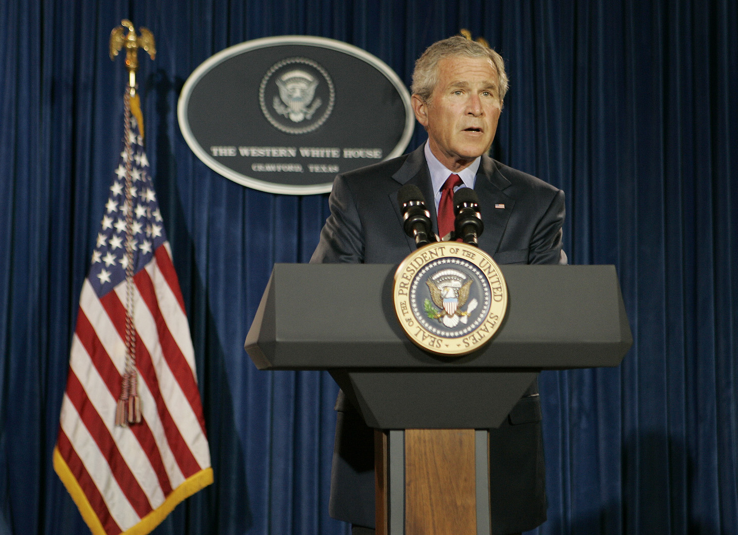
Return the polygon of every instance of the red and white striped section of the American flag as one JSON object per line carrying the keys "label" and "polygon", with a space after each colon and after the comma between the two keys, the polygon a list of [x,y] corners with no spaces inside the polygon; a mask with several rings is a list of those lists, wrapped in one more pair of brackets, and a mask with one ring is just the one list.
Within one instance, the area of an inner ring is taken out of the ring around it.
{"label": "red and white striped section of the American flag", "polygon": [[137,525],[210,467],[190,328],[166,242],[134,282],[142,422],[114,425],[125,369],[125,281],[98,298],[85,280],[57,444],[108,535]]}

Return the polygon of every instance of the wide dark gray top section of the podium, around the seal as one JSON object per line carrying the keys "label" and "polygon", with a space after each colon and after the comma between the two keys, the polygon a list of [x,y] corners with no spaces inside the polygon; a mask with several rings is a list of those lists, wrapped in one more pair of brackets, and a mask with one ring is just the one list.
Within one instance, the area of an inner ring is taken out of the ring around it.
{"label": "wide dark gray top section of the podium, around the seal", "polygon": [[392,304],[396,266],[275,264],[245,348],[260,370],[617,366],[632,336],[615,266],[500,266],[508,311],[492,342],[433,356]]}

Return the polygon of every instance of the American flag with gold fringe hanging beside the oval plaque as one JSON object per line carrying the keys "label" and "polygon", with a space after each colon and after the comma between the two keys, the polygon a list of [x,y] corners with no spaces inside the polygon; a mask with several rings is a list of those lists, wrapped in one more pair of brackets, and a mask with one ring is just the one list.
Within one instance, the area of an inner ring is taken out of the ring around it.
{"label": "American flag with gold fringe hanging beside the oval plaque", "polygon": [[[95,535],[147,534],[213,482],[190,328],[149,176],[137,96],[125,95],[125,122],[80,295],[54,450],[55,471]],[[120,426],[127,314],[141,420]]]}

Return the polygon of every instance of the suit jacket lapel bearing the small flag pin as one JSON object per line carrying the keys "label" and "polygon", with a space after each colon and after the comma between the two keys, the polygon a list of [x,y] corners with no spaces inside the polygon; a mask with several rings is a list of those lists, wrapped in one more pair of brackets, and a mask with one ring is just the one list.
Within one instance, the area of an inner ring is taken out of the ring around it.
{"label": "suit jacket lapel bearing the small flag pin", "polygon": [[510,185],[494,160],[483,155],[474,190],[479,197],[479,207],[484,222],[484,232],[479,238],[479,247],[489,255],[494,255],[500,247],[515,199],[506,196],[503,190]]}

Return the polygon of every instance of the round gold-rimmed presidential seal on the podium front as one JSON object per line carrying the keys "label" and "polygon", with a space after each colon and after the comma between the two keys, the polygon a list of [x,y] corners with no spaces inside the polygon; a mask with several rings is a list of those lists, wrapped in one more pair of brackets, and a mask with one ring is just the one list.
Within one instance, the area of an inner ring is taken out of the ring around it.
{"label": "round gold-rimmed presidential seal on the podium front", "polygon": [[492,339],[505,317],[508,294],[490,255],[469,244],[441,241],[400,263],[393,301],[400,325],[416,345],[461,356]]}

